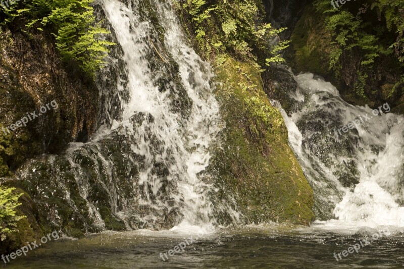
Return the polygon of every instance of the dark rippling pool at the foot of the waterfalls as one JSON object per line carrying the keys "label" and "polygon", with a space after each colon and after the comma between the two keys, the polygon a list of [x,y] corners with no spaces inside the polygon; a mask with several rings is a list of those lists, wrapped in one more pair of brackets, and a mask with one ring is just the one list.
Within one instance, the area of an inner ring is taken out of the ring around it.
{"label": "dark rippling pool at the foot of the waterfalls", "polygon": [[[11,260],[7,267],[402,268],[404,234],[392,228],[389,232],[385,235],[382,229],[330,231],[319,226],[285,225],[222,228],[204,235],[147,230],[105,232],[78,240],[61,238],[48,242],[27,256]],[[377,240],[372,239],[375,233],[379,235]],[[360,246],[358,253],[352,250],[355,244]]]}

